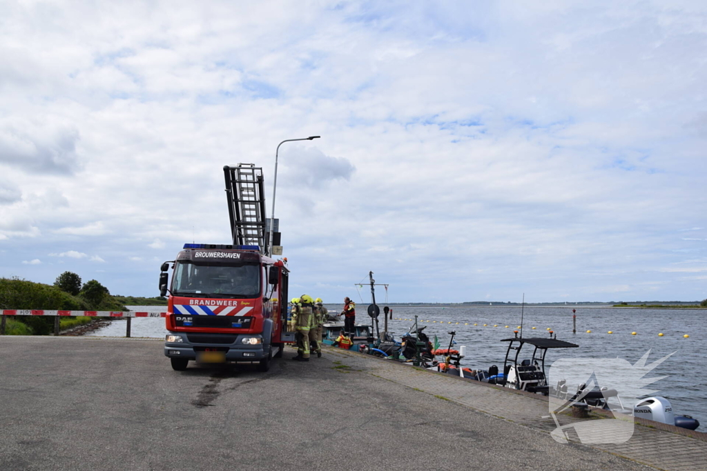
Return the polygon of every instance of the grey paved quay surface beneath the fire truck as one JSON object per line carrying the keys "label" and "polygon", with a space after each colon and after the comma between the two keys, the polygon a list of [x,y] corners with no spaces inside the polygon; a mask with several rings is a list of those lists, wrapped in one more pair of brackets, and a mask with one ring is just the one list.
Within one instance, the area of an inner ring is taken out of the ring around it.
{"label": "grey paved quay surface beneath the fire truck", "polygon": [[557,443],[539,396],[355,352],[178,372],[162,345],[0,337],[0,470],[707,470],[701,434]]}

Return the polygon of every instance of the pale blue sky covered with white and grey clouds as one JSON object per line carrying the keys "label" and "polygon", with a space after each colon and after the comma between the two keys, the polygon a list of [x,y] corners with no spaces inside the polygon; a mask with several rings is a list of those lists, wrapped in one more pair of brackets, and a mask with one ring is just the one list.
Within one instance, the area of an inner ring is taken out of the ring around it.
{"label": "pale blue sky covered with white and grey clouds", "polygon": [[158,295],[262,167],[291,292],[707,298],[703,1],[2,1],[0,277]]}

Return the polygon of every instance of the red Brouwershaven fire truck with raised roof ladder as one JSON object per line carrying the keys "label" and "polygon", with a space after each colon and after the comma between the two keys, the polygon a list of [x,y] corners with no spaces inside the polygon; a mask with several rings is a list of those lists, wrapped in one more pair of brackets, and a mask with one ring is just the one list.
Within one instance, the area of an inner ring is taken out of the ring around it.
{"label": "red Brouwershaven fire truck with raised roof ladder", "polygon": [[185,244],[161,267],[160,294],[169,293],[164,351],[177,371],[189,361],[255,362],[268,371],[271,358],[294,342],[286,258],[269,256],[262,168],[238,164],[223,173],[233,244]]}

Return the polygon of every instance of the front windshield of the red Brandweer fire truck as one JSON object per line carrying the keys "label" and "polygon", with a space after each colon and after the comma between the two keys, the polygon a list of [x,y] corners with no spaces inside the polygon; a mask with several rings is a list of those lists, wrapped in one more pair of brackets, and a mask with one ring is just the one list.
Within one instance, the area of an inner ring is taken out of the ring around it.
{"label": "front windshield of the red Brandweer fire truck", "polygon": [[177,262],[172,294],[175,296],[255,298],[260,292],[258,265],[201,265]]}

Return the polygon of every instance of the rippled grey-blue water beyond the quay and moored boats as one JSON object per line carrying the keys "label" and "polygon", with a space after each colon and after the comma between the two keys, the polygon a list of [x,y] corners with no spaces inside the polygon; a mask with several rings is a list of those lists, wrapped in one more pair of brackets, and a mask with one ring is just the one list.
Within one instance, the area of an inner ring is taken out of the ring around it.
{"label": "rippled grey-blue water beyond the quay and moored boats", "polygon": [[[341,311],[342,306],[327,306],[330,310]],[[369,323],[363,304],[356,320]],[[164,306],[129,306],[133,311],[164,311]],[[692,309],[612,309],[575,306],[577,310],[577,332],[572,333],[572,308],[539,308],[523,310],[523,331],[525,337],[549,337],[551,328],[560,340],[578,344],[578,348],[550,350],[547,364],[560,358],[615,358],[635,364],[645,352],[650,350],[648,362],[672,357],[663,362],[649,375],[665,376],[653,383],[653,389],[672,403],[678,414],[688,414],[701,422],[700,431],[707,431],[707,370],[705,352],[707,347],[707,311]],[[361,315],[363,314],[363,316]],[[411,328],[414,316],[419,325],[426,326],[425,333],[431,338],[438,336],[442,347],[449,343],[450,330],[456,330],[457,346],[467,345],[465,366],[488,369],[491,364],[503,367],[507,342],[513,337],[513,330],[520,326],[520,307],[402,307],[393,308],[393,319],[388,321],[395,338]],[[403,320],[399,320],[403,319]],[[476,323],[477,326],[473,324]],[[484,327],[486,324],[486,327]],[[379,318],[383,329],[382,315]],[[493,327],[498,326],[498,327]],[[506,328],[508,326],[508,328]],[[532,327],[535,327],[533,330]],[[163,318],[134,318],[134,337],[163,337]],[[591,330],[592,333],[586,333]],[[607,333],[612,330],[612,334]],[[631,335],[636,332],[637,335]],[[663,333],[662,337],[658,333]],[[689,335],[684,338],[683,335]],[[96,331],[93,335],[125,335],[125,321],[115,321],[110,326]],[[527,347],[526,347],[527,348]],[[525,349],[524,349],[525,351]],[[528,352],[530,357],[532,351]]]}

